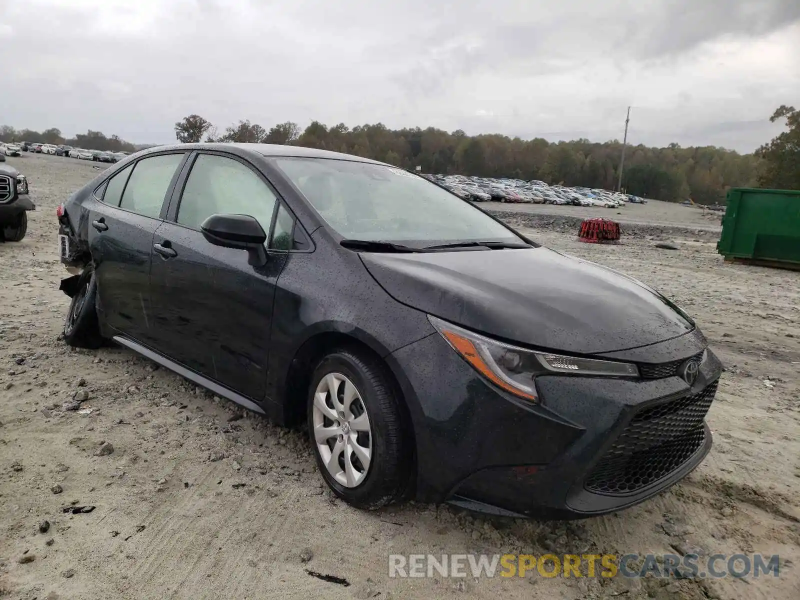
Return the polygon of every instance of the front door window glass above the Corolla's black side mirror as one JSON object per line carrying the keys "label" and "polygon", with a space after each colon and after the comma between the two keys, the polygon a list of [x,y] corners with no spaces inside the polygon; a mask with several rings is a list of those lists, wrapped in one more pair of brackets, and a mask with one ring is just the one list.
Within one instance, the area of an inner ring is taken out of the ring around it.
{"label": "front door window glass above the Corolla's black side mirror", "polygon": [[177,221],[200,229],[212,214],[249,214],[269,234],[277,199],[270,186],[241,162],[200,154],[186,179]]}

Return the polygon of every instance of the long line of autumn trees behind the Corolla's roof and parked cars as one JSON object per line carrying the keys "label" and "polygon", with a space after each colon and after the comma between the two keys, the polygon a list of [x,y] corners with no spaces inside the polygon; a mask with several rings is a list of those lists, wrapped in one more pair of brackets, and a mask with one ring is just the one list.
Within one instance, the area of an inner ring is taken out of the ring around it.
{"label": "long line of autumn trees behind the Corolla's roof and parked cars", "polygon": [[[800,119],[797,111],[783,106],[773,120],[782,117],[788,118],[790,129],[798,130],[791,122],[792,118]],[[500,134],[469,136],[462,130],[447,132],[434,127],[391,130],[382,123],[351,129],[344,123],[329,127],[313,121],[301,130],[296,123],[285,122],[267,130],[240,121],[219,134],[211,122],[193,114],[175,123],[175,134],[179,142],[199,142],[205,137],[206,142],[295,144],[374,158],[406,169],[419,166],[423,173],[540,179],[549,184],[606,190],[616,189],[622,159],[618,140],[548,142]],[[715,146],[683,148],[675,143],[664,148],[628,146],[622,187],[645,198],[671,202],[691,198],[700,204],[724,202],[730,187],[791,186],[792,173],[794,189],[800,188],[796,158],[795,163],[784,158],[782,166],[772,167],[777,164],[776,157],[784,156],[790,146],[790,140],[775,146],[776,140],[754,154]],[[795,147],[800,148],[800,144]]]}

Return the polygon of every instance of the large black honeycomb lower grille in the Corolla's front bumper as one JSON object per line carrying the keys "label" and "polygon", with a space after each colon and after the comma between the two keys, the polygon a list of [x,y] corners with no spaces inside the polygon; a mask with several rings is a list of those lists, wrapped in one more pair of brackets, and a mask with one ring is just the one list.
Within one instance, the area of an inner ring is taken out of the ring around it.
{"label": "large black honeycomb lower grille in the Corolla's front bumper", "polygon": [[632,494],[682,466],[706,439],[703,419],[717,383],[634,414],[586,478],[586,489],[609,496]]}

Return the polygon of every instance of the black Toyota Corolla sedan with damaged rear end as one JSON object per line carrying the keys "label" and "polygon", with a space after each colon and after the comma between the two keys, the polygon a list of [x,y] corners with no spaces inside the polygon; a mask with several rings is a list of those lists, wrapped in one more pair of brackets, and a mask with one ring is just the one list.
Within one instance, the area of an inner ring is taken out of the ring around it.
{"label": "black Toyota Corolla sedan with damaged rear end", "polygon": [[294,146],[161,146],[58,209],[64,338],[305,427],[350,504],[619,510],[710,449],[691,318],[426,178]]}

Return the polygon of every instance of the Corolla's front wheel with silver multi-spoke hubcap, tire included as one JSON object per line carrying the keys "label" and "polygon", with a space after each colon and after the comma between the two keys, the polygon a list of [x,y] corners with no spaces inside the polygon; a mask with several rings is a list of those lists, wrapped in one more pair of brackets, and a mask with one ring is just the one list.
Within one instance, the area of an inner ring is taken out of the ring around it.
{"label": "Corolla's front wheel with silver multi-spoke hubcap, tire included", "polygon": [[374,510],[409,487],[412,450],[386,366],[342,348],[319,362],[308,396],[308,428],[319,470],[348,504]]}

